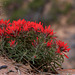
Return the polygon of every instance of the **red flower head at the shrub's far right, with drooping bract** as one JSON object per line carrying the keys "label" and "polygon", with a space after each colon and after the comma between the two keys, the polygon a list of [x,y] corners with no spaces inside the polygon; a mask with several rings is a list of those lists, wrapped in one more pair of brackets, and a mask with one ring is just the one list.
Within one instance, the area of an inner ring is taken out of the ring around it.
{"label": "red flower head at the shrub's far right, with drooping bract", "polygon": [[[64,42],[62,42],[62,41],[59,40],[59,41],[56,41],[56,44],[58,46],[58,49],[56,51],[57,53],[61,54],[63,52],[69,52],[70,48],[68,48],[69,46],[67,46],[67,43],[65,44]],[[65,55],[65,56],[67,57],[67,55]]]}

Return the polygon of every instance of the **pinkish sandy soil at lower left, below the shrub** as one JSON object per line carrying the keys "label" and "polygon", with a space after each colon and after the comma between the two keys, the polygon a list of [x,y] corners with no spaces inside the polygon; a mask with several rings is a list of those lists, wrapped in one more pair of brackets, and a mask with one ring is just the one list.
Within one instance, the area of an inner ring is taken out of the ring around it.
{"label": "pinkish sandy soil at lower left, below the shrub", "polygon": [[[6,65],[7,68],[0,69],[0,75],[33,75],[29,73],[30,67],[13,60],[0,56],[0,66]],[[13,71],[13,72],[10,72]]]}

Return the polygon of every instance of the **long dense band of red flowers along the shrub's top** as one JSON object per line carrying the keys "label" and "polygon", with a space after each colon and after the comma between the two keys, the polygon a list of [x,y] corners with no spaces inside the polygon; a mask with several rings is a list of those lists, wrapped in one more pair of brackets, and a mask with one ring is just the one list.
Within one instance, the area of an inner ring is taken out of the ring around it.
{"label": "long dense band of red flowers along the shrub's top", "polygon": [[[18,20],[18,21],[13,21],[12,23],[8,23],[8,21],[3,21],[1,20],[0,21],[0,35],[5,35],[7,36],[10,35],[10,36],[13,36],[13,37],[16,37],[16,36],[19,36],[19,33],[21,32],[26,32],[26,31],[35,31],[35,32],[41,32],[41,33],[44,33],[46,34],[47,36],[48,35],[53,35],[54,32],[52,29],[50,29],[50,26],[47,28],[43,27],[43,25],[41,25],[41,22],[38,24],[36,22],[30,22],[30,21],[25,21],[24,19],[23,20]],[[7,36],[8,37],[8,36]]]}

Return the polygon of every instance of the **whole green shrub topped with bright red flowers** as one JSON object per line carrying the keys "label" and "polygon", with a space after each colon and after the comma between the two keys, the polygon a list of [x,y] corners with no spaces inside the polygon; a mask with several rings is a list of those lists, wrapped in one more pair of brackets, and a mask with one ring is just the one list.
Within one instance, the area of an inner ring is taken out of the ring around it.
{"label": "whole green shrub topped with bright red flowers", "polygon": [[55,70],[69,52],[67,43],[57,40],[55,33],[40,23],[23,20],[0,20],[0,50],[17,62],[28,63],[35,70]]}

